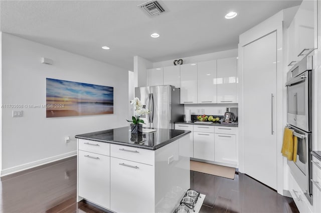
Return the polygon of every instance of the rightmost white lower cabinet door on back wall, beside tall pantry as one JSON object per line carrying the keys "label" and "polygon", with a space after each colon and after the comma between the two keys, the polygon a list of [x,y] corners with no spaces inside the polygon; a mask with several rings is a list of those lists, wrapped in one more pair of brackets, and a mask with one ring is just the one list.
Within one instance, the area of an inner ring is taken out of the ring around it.
{"label": "rightmost white lower cabinet door on back wall, beside tall pantry", "polygon": [[215,161],[237,164],[235,134],[215,133]]}

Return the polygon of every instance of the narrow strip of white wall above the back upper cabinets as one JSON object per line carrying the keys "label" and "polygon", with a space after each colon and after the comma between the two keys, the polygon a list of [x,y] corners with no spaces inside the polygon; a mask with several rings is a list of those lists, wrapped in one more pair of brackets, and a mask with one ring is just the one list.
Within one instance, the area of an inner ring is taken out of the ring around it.
{"label": "narrow strip of white wall above the back upper cabinets", "polygon": [[[227,58],[227,57],[237,57],[237,54],[238,54],[238,49],[229,49],[225,51],[211,52],[207,54],[194,55],[190,57],[182,57],[182,59],[183,59],[183,64],[186,64],[186,63],[195,63],[195,62],[207,61],[207,60],[216,60],[216,59]],[[178,59],[178,58],[154,62],[152,64],[152,68],[173,66],[174,65],[173,61],[175,59]]]}

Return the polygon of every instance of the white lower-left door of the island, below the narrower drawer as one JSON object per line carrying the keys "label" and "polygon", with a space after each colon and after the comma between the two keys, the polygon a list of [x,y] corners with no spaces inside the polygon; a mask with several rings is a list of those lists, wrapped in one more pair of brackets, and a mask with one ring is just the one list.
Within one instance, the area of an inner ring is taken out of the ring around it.
{"label": "white lower-left door of the island, below the narrower drawer", "polygon": [[110,208],[110,156],[79,150],[78,195]]}

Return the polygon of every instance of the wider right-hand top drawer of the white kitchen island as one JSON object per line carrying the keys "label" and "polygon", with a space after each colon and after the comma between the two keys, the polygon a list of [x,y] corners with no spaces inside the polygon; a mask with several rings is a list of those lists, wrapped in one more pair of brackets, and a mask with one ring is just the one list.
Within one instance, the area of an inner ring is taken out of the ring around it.
{"label": "wider right-hand top drawer of the white kitchen island", "polygon": [[110,144],[110,156],[149,165],[154,164],[154,151],[143,148]]}

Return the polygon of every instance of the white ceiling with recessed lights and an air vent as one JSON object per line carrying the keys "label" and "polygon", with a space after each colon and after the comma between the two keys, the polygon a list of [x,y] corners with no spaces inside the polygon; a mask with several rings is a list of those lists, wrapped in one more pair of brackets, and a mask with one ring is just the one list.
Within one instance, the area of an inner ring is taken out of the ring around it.
{"label": "white ceiling with recessed lights and an air vent", "polygon": [[[237,48],[239,34],[301,0],[159,0],[167,12],[154,17],[143,2],[1,0],[1,30],[132,70],[134,55],[156,62]],[[231,10],[238,15],[225,19]]]}

